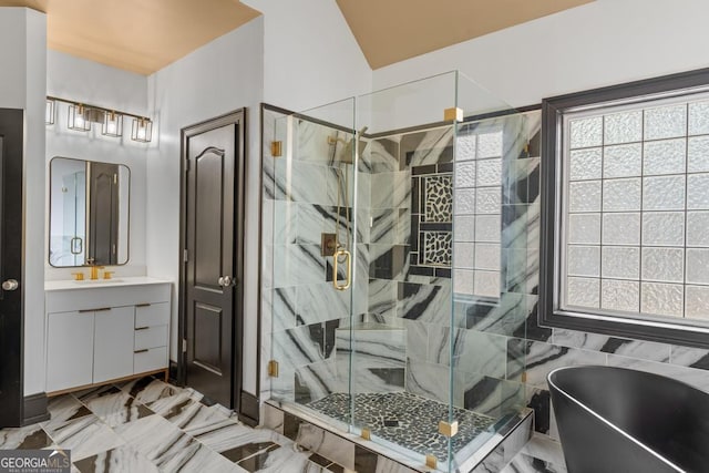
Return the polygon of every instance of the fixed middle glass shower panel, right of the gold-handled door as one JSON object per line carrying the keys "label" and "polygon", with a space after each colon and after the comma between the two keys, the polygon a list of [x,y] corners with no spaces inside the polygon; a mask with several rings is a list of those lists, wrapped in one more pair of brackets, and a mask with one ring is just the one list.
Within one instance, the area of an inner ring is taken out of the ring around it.
{"label": "fixed middle glass shower panel, right of the gold-handled door", "polygon": [[352,430],[438,466],[448,457],[439,422],[450,405],[453,126],[444,120],[454,104],[454,73],[357,99],[369,182],[358,212],[369,232],[359,244],[367,310],[351,330]]}

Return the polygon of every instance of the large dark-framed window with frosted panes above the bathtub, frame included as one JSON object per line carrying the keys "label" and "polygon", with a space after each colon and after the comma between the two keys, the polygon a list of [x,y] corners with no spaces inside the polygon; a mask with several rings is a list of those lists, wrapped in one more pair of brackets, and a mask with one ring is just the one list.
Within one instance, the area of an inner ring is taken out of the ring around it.
{"label": "large dark-framed window with frosted panes above the bathtub, frame included", "polygon": [[545,100],[543,325],[709,348],[709,70]]}

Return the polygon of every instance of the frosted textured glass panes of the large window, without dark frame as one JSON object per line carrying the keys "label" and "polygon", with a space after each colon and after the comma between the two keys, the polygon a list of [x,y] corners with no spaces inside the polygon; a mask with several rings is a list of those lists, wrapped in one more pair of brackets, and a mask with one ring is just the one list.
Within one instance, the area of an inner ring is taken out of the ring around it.
{"label": "frosted textured glass panes of the large window, without dark frame", "polygon": [[709,99],[564,122],[561,307],[709,320]]}

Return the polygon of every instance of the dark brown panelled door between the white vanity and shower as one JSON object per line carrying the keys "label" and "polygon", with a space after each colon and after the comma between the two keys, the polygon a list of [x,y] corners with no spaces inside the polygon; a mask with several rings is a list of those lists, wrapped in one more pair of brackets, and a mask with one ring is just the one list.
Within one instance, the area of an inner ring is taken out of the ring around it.
{"label": "dark brown panelled door between the white vanity and shower", "polygon": [[243,113],[183,130],[185,383],[234,408],[240,369]]}

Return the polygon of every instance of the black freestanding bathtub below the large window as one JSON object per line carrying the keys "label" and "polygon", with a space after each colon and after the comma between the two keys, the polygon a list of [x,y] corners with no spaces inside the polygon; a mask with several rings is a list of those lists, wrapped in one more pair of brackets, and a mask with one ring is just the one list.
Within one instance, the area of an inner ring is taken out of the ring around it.
{"label": "black freestanding bathtub below the large window", "polygon": [[709,472],[708,393],[613,367],[559,368],[548,383],[569,473]]}

